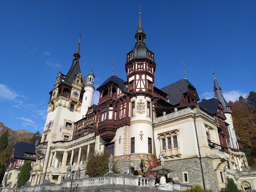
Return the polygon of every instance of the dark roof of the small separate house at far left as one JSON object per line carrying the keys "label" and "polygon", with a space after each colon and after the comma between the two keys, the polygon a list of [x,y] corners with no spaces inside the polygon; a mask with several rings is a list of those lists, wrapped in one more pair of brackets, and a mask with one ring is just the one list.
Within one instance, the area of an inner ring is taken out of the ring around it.
{"label": "dark roof of the small separate house at far left", "polygon": [[25,156],[25,153],[35,154],[35,144],[19,141],[14,146],[14,158],[33,159]]}

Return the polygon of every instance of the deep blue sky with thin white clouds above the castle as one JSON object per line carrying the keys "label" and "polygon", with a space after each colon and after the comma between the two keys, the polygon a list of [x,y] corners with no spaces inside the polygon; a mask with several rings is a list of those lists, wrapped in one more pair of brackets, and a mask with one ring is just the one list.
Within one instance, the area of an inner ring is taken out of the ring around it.
{"label": "deep blue sky with thin white clouds above the castle", "polygon": [[[183,78],[200,99],[214,97],[212,67],[226,100],[256,91],[256,1],[1,1],[0,121],[42,132],[49,92],[80,44],[80,68],[95,87],[112,74],[126,80],[139,2],[146,46],[155,54],[155,85]],[[95,94],[95,104],[98,93]]]}

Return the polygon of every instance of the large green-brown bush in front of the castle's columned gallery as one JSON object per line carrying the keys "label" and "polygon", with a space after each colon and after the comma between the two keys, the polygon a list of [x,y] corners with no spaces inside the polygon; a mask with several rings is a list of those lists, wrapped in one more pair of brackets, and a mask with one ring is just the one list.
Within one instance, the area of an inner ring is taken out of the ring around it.
{"label": "large green-brown bush in front of the castle's columned gallery", "polygon": [[[103,176],[106,174],[109,171],[108,158],[108,154],[102,154],[101,152],[96,152],[90,156],[88,162],[86,163],[85,174],[90,177]],[[113,172],[117,173],[115,164]]]}

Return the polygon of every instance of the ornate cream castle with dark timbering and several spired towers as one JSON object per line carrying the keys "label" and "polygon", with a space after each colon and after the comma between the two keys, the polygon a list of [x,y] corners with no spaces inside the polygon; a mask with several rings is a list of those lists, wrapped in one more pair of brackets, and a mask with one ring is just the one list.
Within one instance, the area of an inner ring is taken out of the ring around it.
{"label": "ornate cream castle with dark timbering and several spired towers", "polygon": [[132,174],[141,158],[164,153],[174,182],[201,185],[214,192],[226,177],[238,188],[256,189],[256,172],[247,164],[242,141],[232,122],[232,108],[214,74],[215,97],[198,103],[196,88],[184,76],[164,88],[154,85],[154,53],[145,44],[139,12],[135,46],[126,54],[127,80],[112,74],[96,90],[94,73],[82,78],[80,40],[66,75],[58,73],[50,91],[47,118],[30,183],[59,184],[67,167],[81,170],[94,152],[109,152],[116,166]]}

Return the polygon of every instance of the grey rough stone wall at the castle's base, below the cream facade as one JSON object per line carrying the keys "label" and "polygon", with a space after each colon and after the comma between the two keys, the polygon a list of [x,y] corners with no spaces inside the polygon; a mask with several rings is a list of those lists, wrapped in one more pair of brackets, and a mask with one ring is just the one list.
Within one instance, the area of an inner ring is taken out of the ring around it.
{"label": "grey rough stone wall at the castle's base, below the cream facade", "polygon": [[[198,160],[198,162],[196,162]],[[199,158],[177,159],[165,161],[164,165],[174,170],[169,174],[175,182],[190,184],[193,186],[200,185],[203,187],[202,172]],[[218,179],[214,170],[212,159],[202,158],[202,167],[204,171],[204,180],[207,189],[218,192]],[[184,182],[183,173],[188,174],[188,182]]]}

